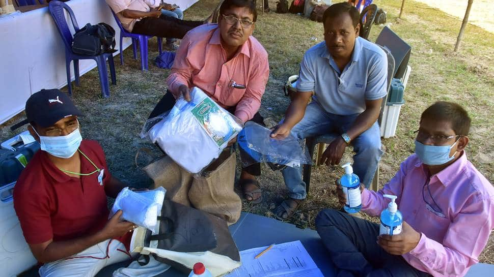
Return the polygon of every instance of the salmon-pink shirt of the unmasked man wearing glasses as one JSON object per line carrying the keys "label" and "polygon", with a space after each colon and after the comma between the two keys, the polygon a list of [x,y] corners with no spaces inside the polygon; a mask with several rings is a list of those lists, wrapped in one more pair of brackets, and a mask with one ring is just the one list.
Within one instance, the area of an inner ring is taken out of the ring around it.
{"label": "salmon-pink shirt of the unmasked man wearing glasses", "polygon": [[[217,24],[191,29],[180,43],[167,83],[177,98],[178,87],[197,86],[224,108],[236,106],[244,122],[261,106],[269,77],[267,52],[253,37],[229,61],[220,42]],[[232,81],[246,88],[232,87]]]}

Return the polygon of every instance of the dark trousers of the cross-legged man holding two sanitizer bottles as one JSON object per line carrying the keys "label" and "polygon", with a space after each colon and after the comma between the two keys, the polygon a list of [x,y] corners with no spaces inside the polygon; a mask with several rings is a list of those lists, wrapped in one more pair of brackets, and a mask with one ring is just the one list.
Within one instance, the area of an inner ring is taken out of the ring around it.
{"label": "dark trousers of the cross-legged man holding two sanitizer bottles", "polygon": [[376,243],[378,224],[324,209],[316,217],[316,229],[338,269],[338,277],[431,277],[402,256],[384,251]]}

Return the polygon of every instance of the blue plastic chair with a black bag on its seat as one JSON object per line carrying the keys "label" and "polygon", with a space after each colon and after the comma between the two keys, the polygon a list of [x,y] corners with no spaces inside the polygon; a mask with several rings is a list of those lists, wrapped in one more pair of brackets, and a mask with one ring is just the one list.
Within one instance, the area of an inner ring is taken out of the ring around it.
{"label": "blue plastic chair with a black bag on its seat", "polygon": [[72,41],[73,36],[70,33],[69,25],[65,19],[64,9],[69,13],[70,20],[74,27],[75,32],[79,30],[79,25],[75,19],[72,9],[70,9],[67,4],[60,2],[58,0],[53,0],[48,5],[48,10],[50,11],[51,17],[55,21],[57,28],[62,36],[62,40],[65,44],[65,64],[67,69],[67,86],[69,87],[69,95],[72,95],[72,84],[70,81],[70,61],[74,61],[74,75],[75,83],[79,85],[79,59],[94,59],[98,66],[99,80],[101,82],[101,93],[103,98],[110,96],[108,88],[108,73],[106,71],[106,59],[108,59],[108,64],[110,68],[110,75],[112,76],[112,84],[117,84],[117,78],[115,76],[115,65],[113,63],[112,53],[103,53],[97,56],[87,56],[79,55],[72,52]]}

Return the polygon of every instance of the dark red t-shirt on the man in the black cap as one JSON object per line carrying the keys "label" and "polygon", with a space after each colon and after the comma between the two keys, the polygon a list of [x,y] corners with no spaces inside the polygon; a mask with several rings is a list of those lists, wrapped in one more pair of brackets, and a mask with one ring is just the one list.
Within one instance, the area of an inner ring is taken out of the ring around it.
{"label": "dark red t-shirt on the man in the black cap", "polygon": [[[108,220],[105,184],[111,179],[103,149],[98,142],[83,140],[79,149],[103,172],[71,177],[38,151],[22,171],[14,187],[14,208],[26,241],[37,244],[93,234]],[[80,173],[96,168],[80,155]]]}

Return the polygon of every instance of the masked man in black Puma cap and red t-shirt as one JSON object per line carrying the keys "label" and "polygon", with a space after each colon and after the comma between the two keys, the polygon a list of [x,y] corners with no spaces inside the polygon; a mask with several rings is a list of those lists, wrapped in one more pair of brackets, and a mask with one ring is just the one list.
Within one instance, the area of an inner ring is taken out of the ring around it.
{"label": "masked man in black Puma cap and red t-shirt", "polygon": [[14,187],[14,208],[41,277],[92,277],[106,265],[130,258],[135,226],[108,220],[106,196],[126,185],[111,175],[103,149],[83,140],[80,111],[58,89],[33,94],[25,106],[31,135],[41,150]]}

